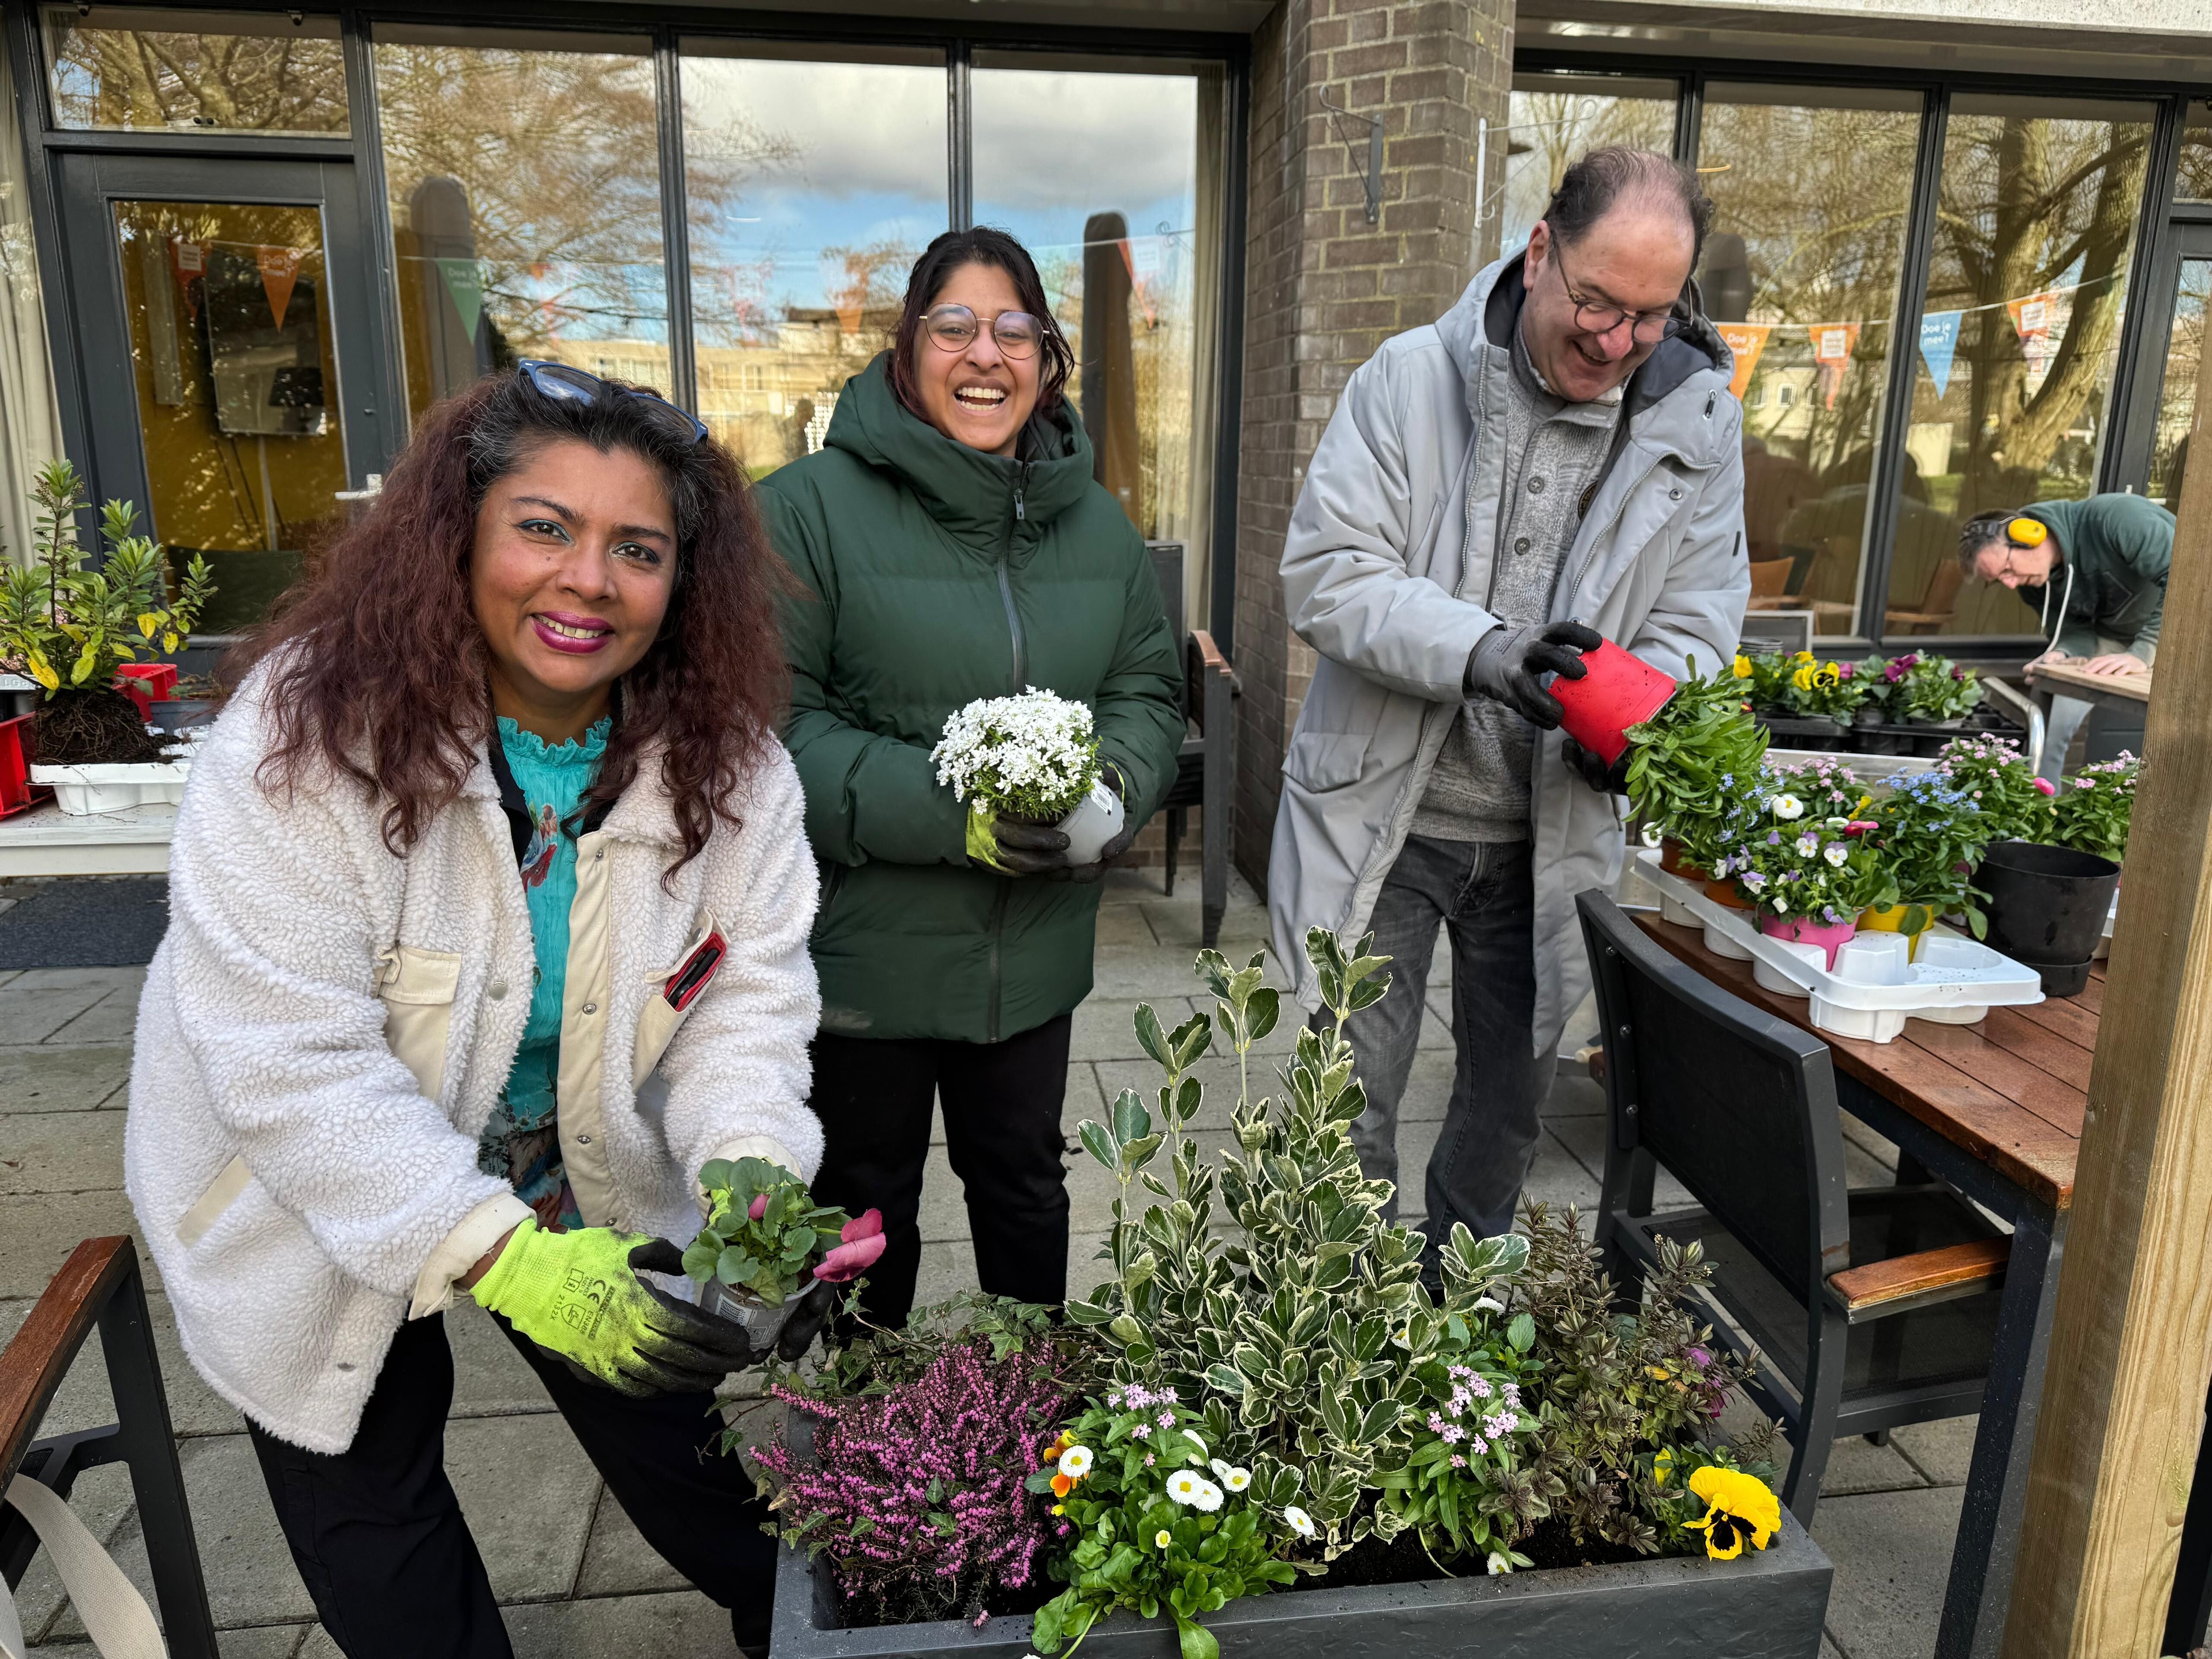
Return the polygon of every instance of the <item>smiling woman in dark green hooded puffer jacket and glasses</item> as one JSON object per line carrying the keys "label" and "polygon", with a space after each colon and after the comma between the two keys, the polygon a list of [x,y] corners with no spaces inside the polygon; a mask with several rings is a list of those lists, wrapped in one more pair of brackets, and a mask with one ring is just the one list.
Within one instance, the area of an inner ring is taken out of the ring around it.
{"label": "smiling woman in dark green hooded puffer jacket and glasses", "polygon": [[[763,480],[785,606],[783,741],[823,872],[814,1110],[823,1203],[883,1210],[865,1305],[900,1325],[933,1099],[982,1287],[1066,1298],[1060,1104],[1091,993],[1099,876],[1175,779],[1181,664],[1144,542],[1091,476],[1073,354],[1000,230],[929,243],[889,352],[838,396],[821,453]],[[1124,827],[1071,867],[1057,830],[1000,818],[1009,872],[969,863],[929,750],[978,697],[1088,703]]]}

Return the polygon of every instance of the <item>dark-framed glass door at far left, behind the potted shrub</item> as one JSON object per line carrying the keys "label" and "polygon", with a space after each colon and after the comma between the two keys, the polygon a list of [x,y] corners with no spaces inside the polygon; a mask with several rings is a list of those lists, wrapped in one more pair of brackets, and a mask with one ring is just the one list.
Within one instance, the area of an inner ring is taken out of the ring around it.
{"label": "dark-framed glass door at far left, behind the potted shrub", "polygon": [[383,469],[352,168],[71,155],[62,186],[93,491],[206,555],[217,644]]}

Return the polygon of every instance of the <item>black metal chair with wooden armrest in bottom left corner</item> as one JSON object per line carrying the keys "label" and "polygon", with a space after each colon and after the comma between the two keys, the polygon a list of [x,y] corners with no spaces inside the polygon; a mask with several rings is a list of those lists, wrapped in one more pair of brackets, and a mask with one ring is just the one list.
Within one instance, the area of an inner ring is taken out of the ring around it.
{"label": "black metal chair with wooden armrest in bottom left corner", "polygon": [[[53,1391],[62,1387],[71,1360],[95,1327],[117,1420],[33,1442]],[[208,1584],[199,1571],[192,1513],[168,1422],[168,1394],[161,1389],[161,1358],[146,1312],[146,1283],[131,1239],[80,1243],[0,1352],[0,1493],[20,1473],[66,1500],[77,1475],[104,1462],[131,1467],[170,1659],[217,1659]],[[35,1553],[31,1522],[18,1509],[0,1504],[0,1575],[9,1588],[22,1584]],[[93,1624],[91,1615],[86,1624]],[[95,1637],[97,1630],[93,1624]]]}

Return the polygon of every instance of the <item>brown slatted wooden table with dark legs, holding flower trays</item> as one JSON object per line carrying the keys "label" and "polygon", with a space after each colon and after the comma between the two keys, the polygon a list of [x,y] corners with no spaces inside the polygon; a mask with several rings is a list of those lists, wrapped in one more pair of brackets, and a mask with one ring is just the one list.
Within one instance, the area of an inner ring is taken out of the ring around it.
{"label": "brown slatted wooden table with dark legs, holding flower trays", "polygon": [[[1763,989],[1750,962],[1714,956],[1697,929],[1657,911],[1637,911],[1637,925],[1708,980],[1812,1031],[1805,998]],[[2013,1223],[1938,1659],[1995,1655],[2004,1641],[2101,1006],[2099,962],[2081,995],[1991,1009],[1973,1026],[1907,1020],[1887,1044],[1814,1033],[1834,1055],[1843,1108],[1898,1144],[1898,1181],[1927,1170]]]}

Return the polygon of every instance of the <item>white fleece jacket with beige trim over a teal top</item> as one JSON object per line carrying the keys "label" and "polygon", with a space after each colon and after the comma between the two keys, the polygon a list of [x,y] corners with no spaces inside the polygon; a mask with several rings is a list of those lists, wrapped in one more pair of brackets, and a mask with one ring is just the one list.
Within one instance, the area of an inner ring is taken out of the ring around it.
{"label": "white fleece jacket with beige trim over a teal top", "polygon": [[[257,781],[263,754],[254,677],[195,757],[177,812],[124,1186],[192,1367],[270,1433],[336,1453],[425,1265],[507,1194],[476,1168],[476,1137],[529,1015],[531,925],[482,757],[398,858],[383,801],[336,781],[272,796]],[[737,801],[743,827],[717,821],[664,889],[679,843],[646,761],[580,847],[606,872],[606,925],[568,958],[571,1020],[591,1040],[571,1044],[568,1022],[562,1035],[564,1128],[571,1057],[597,1062],[582,1082],[597,1093],[608,1214],[586,1221],[684,1243],[695,1175],[732,1141],[772,1137],[810,1179],[821,1164],[805,1104],[821,995],[803,805],[776,745]],[[661,989],[708,927],[728,956],[675,1015]],[[577,989],[591,984],[604,1006]],[[418,1051],[414,1071],[396,1046]],[[641,1104],[633,1057],[655,1046],[666,1095],[648,1088]]]}

